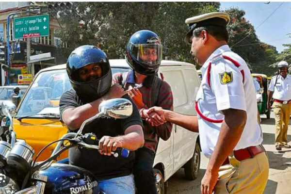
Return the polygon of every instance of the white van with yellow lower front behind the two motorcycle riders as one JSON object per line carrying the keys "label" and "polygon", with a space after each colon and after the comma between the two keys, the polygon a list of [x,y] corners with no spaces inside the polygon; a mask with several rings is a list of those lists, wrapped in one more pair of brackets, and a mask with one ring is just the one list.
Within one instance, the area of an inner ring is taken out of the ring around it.
{"label": "white van with yellow lower front behind the two motorcycle riders", "polygon": [[[129,71],[130,67],[124,59],[109,60],[113,74]],[[25,139],[35,150],[35,154],[50,142],[59,139],[66,132],[65,125],[59,121],[59,99],[61,95],[71,89],[64,65],[56,65],[42,69],[33,80],[26,95],[19,105],[14,119],[14,130],[19,139]],[[193,64],[162,61],[160,73],[167,81],[173,92],[174,111],[183,114],[196,115],[195,97],[200,85],[200,79]],[[60,85],[55,87],[57,83]],[[50,89],[48,89],[48,87]],[[49,93],[40,94],[35,91],[46,89]],[[48,95],[47,95],[48,94]],[[49,96],[49,94],[51,96]],[[54,95],[55,94],[55,95]],[[41,96],[42,95],[42,96]],[[45,95],[45,96],[44,96]],[[45,106],[37,107],[46,98]],[[32,100],[34,99],[35,100]],[[41,101],[40,101],[41,100]],[[32,110],[31,107],[37,107]],[[45,111],[45,113],[43,113]],[[37,116],[27,116],[27,115]],[[25,119],[19,119],[21,117]],[[18,120],[17,120],[18,118]],[[49,120],[48,120],[49,119]],[[31,123],[32,125],[28,125]],[[51,146],[50,149],[53,149]],[[45,160],[50,152],[43,152],[39,160]],[[67,155],[66,155],[67,156]],[[66,157],[63,155],[63,157]],[[184,168],[186,178],[197,177],[200,167],[200,146],[198,133],[173,125],[171,137],[167,141],[160,139],[154,160],[154,170],[157,178],[159,194],[164,194],[167,181],[181,167]]]}

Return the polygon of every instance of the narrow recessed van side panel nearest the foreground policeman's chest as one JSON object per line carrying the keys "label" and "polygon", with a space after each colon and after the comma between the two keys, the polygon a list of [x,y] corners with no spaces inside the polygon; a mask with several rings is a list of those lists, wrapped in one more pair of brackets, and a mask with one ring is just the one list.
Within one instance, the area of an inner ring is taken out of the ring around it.
{"label": "narrow recessed van side panel nearest the foreground policeman's chest", "polygon": [[184,69],[184,75],[185,80],[187,80],[186,85],[190,100],[195,101],[196,94],[200,85],[200,80],[198,80],[194,69]]}

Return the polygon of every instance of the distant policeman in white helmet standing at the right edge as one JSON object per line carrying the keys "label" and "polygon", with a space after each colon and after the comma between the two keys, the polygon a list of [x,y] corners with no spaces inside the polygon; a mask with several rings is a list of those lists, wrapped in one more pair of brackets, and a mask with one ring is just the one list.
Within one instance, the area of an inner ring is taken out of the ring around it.
{"label": "distant policeman in white helmet standing at the right edge", "polygon": [[275,114],[275,148],[291,148],[287,144],[287,130],[291,114],[291,76],[288,75],[288,63],[278,63],[278,75],[274,76],[268,89],[268,109],[271,109],[271,98],[274,98],[273,111]]}

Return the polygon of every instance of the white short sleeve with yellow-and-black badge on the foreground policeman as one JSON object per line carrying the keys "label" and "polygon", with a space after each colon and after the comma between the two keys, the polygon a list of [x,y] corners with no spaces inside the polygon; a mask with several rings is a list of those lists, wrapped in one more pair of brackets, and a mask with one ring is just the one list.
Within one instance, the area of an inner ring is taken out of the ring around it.
{"label": "white short sleeve with yellow-and-black badge on the foreground policeman", "polygon": [[[211,89],[215,95],[218,111],[226,109],[246,110],[242,73],[233,64],[222,61],[211,65]],[[223,80],[224,75],[226,80]]]}

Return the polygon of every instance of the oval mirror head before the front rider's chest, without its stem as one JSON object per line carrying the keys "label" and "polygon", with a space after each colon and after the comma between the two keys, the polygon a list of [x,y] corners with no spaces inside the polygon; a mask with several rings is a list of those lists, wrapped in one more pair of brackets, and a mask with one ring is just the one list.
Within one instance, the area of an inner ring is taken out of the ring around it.
{"label": "oval mirror head before the front rider's chest, without its stem", "polygon": [[113,98],[99,104],[99,113],[113,118],[127,118],[132,114],[132,104],[125,98]]}

